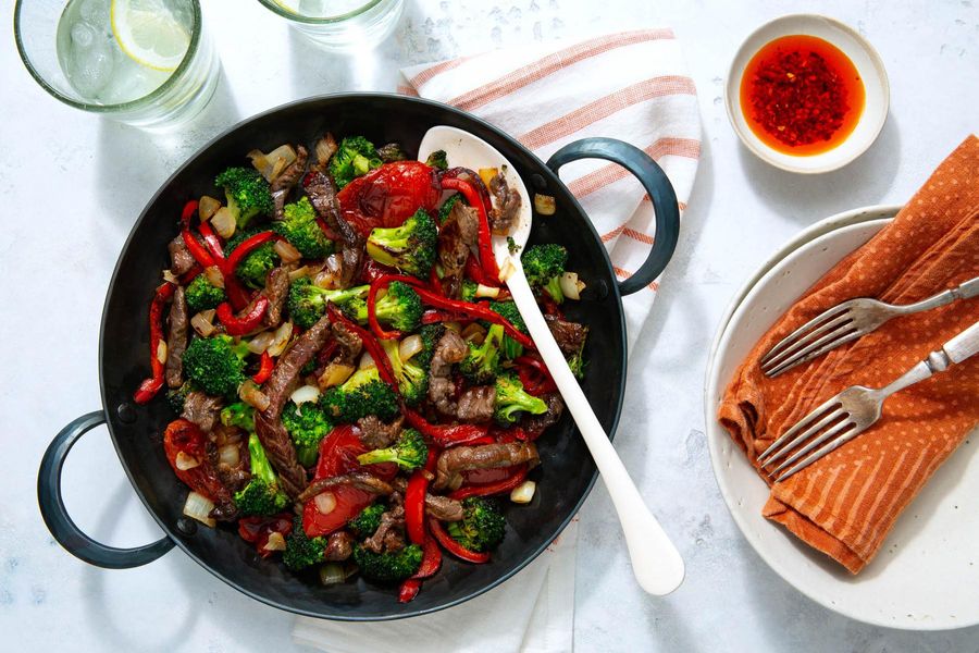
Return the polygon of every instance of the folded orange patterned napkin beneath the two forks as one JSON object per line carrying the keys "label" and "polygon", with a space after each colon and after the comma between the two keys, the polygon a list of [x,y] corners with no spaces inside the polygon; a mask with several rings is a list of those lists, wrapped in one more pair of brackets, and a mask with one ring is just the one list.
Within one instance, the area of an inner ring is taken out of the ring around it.
{"label": "folded orange patterned napkin beneath the two forks", "polygon": [[[817,405],[850,385],[885,385],[979,320],[979,298],[895,318],[767,379],[758,360],[774,343],[846,299],[912,304],[974,276],[979,276],[979,139],[970,136],[893,222],[840,261],[758,341],[724,392],[721,424],[757,468],[758,455]],[[763,515],[856,574],[977,423],[979,357],[974,357],[893,395],[869,430],[774,483]]]}

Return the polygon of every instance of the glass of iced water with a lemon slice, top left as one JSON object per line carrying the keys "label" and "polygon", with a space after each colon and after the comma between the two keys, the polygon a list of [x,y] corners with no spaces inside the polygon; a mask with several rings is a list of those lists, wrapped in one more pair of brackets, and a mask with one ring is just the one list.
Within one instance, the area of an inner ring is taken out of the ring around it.
{"label": "glass of iced water with a lemon slice, top left", "polygon": [[48,93],[127,124],[183,122],[218,85],[198,0],[17,0],[14,30]]}

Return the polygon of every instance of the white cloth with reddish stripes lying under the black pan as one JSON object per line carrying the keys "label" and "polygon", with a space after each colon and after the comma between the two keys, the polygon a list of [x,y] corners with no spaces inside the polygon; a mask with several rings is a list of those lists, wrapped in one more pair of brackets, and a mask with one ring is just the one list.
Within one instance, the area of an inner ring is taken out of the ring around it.
{"label": "white cloth with reddish stripes lying under the black pan", "polygon": [[[656,159],[677,192],[681,211],[686,208],[701,153],[701,121],[694,84],[670,29],[493,51],[401,73],[400,93],[483,118],[545,161],[579,138],[627,140]],[[561,178],[595,223],[616,274],[630,276],[645,260],[655,236],[653,205],[642,186],[623,169],[598,160],[568,164]],[[630,349],[657,287],[653,282],[624,299]],[[569,652],[577,526],[575,519],[515,578],[462,605],[380,624],[300,617],[293,637],[330,653]],[[501,629],[500,624],[508,627]]]}

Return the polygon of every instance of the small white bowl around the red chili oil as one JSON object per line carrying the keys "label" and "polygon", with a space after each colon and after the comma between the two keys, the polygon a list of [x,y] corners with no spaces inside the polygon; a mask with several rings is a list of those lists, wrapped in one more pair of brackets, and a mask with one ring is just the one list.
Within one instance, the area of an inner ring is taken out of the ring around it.
{"label": "small white bowl around the red chili oil", "polygon": [[[752,58],[772,40],[800,34],[816,36],[834,45],[853,62],[864,82],[864,112],[856,127],[840,145],[818,155],[788,155],[766,145],[752,132],[741,110],[741,79]],[[728,118],[741,141],[758,158],[782,170],[811,174],[842,168],[870,147],[888,118],[890,94],[883,62],[867,39],[833,19],[817,14],[794,14],[766,23],[741,45],[728,72],[724,103],[728,107]]]}

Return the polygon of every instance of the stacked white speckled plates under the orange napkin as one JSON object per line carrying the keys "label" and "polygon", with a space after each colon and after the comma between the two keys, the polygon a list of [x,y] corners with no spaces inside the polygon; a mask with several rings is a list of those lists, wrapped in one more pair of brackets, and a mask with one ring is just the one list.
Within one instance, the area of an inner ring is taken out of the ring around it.
{"label": "stacked white speckled plates under the orange napkin", "polygon": [[877,557],[854,577],[761,517],[768,488],[716,419],[728,381],[757,340],[814,282],[872,237],[894,213],[894,207],[862,209],[809,227],[738,293],[708,362],[708,446],[734,521],[786,582],[860,621],[915,630],[963,628],[979,624],[976,444],[964,444],[938,470],[901,516]]}

